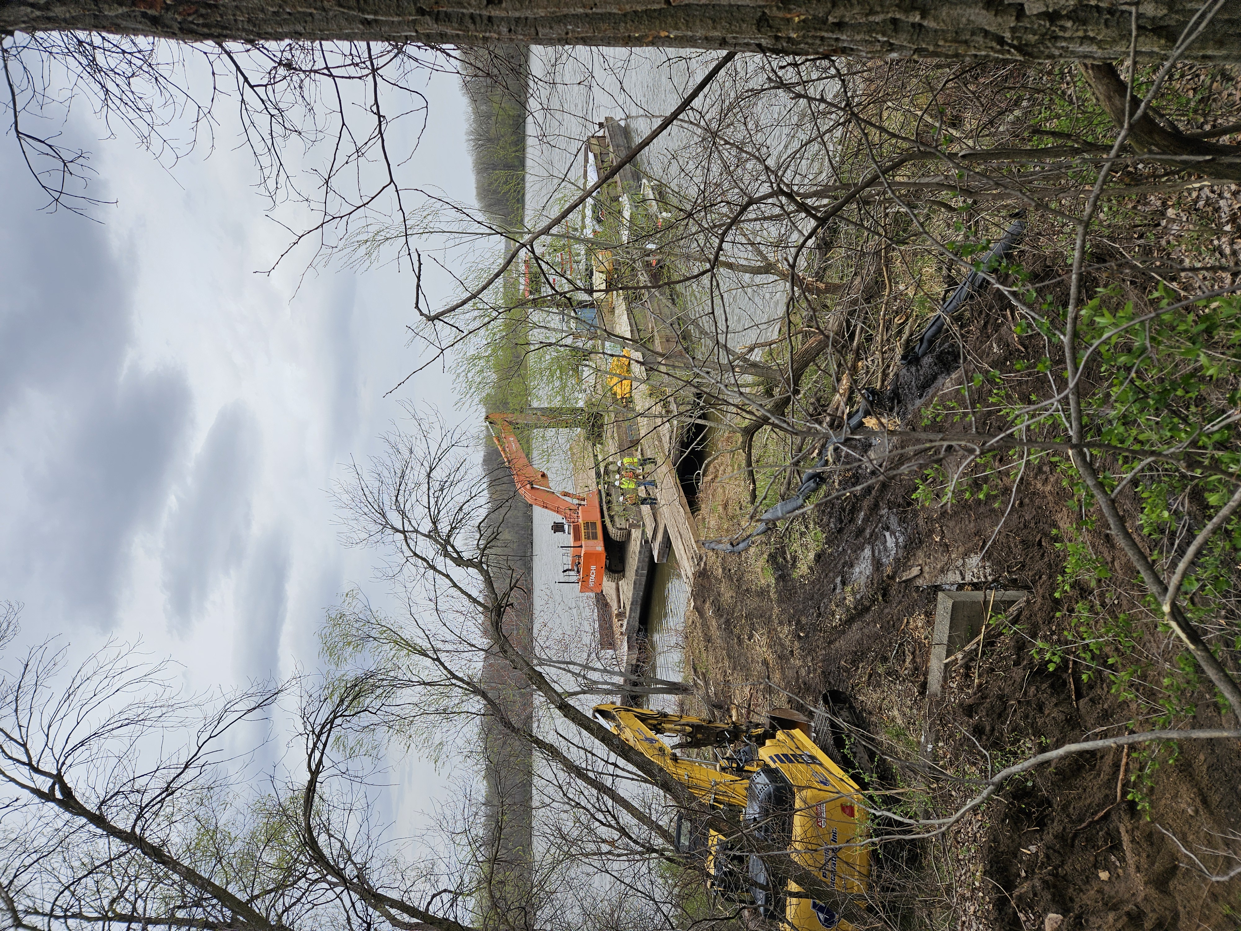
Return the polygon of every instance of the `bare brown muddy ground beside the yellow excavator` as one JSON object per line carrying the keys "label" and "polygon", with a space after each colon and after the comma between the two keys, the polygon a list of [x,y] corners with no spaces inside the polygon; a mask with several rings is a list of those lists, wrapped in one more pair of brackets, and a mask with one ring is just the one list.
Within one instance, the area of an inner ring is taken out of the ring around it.
{"label": "bare brown muddy ground beside the yellow excavator", "polygon": [[[973,314],[964,335],[975,365],[1011,367],[1024,351],[994,302]],[[948,375],[937,390],[959,387],[961,377]],[[915,411],[902,426],[920,416]],[[721,480],[707,487],[727,495],[728,464],[716,468]],[[1051,669],[1036,655],[1035,643],[1056,638],[1062,626],[1056,533],[1078,516],[1055,466],[1041,461],[1026,469],[985,552],[990,571],[956,586],[936,581],[983,550],[1009,498],[925,506],[915,489],[916,477],[897,478],[827,504],[746,554],[711,554],[694,580],[686,647],[715,714],[730,701],[753,713],[788,704],[778,689],[809,701],[827,689],[848,693],[897,761],[880,787],[905,794],[882,803],[925,791],[923,811],[943,813],[973,789],[928,781],[900,760],[930,758],[956,776],[985,777],[988,753],[998,770],[1045,749],[1123,732],[1134,727],[1138,709],[1081,665]],[[706,501],[709,533],[711,511]],[[1133,576],[1106,535],[1092,546],[1107,554],[1117,578]],[[944,587],[1030,595],[1013,618],[1021,629],[992,628],[982,660],[974,650],[952,663],[942,701],[928,705],[931,634]],[[1196,720],[1181,724],[1221,725],[1210,700],[1196,706]],[[934,744],[930,752],[925,740]],[[1041,930],[1052,914],[1065,917],[1061,931],[1241,927],[1241,878],[1209,881],[1183,865],[1189,858],[1163,833],[1211,869],[1236,865],[1201,852],[1241,850],[1241,842],[1226,839],[1241,835],[1241,744],[1184,742],[1149,785],[1139,785],[1138,760],[1108,750],[1044,766],[1008,782],[942,837],[889,857],[880,874],[892,904],[887,917],[903,927],[1014,931]],[[1134,787],[1137,801],[1128,798]]]}

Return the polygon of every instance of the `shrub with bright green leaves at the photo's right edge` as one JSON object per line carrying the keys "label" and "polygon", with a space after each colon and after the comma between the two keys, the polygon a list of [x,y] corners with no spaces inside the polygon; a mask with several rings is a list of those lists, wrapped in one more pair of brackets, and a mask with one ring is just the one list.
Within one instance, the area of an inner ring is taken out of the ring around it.
{"label": "shrub with bright green leaves at the photo's right edge", "polygon": [[[1019,326],[1019,335],[1026,345],[1060,345],[1064,313],[1047,304],[1041,309],[1042,319]],[[1131,526],[1140,531],[1139,544],[1165,577],[1231,498],[1241,474],[1239,318],[1241,298],[1183,305],[1163,286],[1144,307],[1108,288],[1080,310],[1083,441],[1104,488],[1127,510]],[[1051,355],[1034,355],[1009,372],[967,379],[958,392],[942,395],[927,410],[927,422],[968,427],[989,417],[1010,425],[1014,437],[1067,443],[1066,367]],[[1042,376],[1041,390],[1033,395],[1031,374]],[[1195,695],[1204,679],[1170,637],[1137,572],[1113,577],[1116,564],[1098,549],[1104,537],[1096,528],[1093,495],[1061,449],[1005,449],[967,459],[964,467],[934,464],[923,473],[915,498],[923,505],[974,499],[1003,506],[1025,456],[1045,458],[1060,472],[1065,513],[1071,515],[1055,541],[1064,560],[1054,592],[1061,603],[1057,624],[1035,641],[1036,655],[1052,669],[1075,659],[1087,681],[1102,677],[1118,698],[1132,703],[1136,726],[1186,721],[1198,710]],[[1186,616],[1216,648],[1241,649],[1239,562],[1241,519],[1234,515],[1199,555],[1181,591]],[[1139,782],[1149,782],[1169,752],[1172,747],[1152,749],[1140,756]],[[1140,786],[1132,792],[1140,803]]]}

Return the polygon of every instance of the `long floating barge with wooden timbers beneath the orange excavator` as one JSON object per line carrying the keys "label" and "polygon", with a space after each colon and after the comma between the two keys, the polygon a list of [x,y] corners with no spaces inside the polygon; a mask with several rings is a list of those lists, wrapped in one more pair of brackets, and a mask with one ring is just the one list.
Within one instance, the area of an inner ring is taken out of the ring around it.
{"label": "long floating barge with wooden timbers beneath the orange excavator", "polygon": [[[586,146],[597,176],[611,170],[633,145],[628,128],[614,119],[602,123],[601,130]],[[701,439],[696,398],[648,372],[643,359],[644,353],[653,351],[664,362],[675,364],[678,358],[689,361],[671,326],[678,312],[661,290],[658,259],[645,259],[654,250],[630,238],[638,218],[648,230],[660,228],[668,216],[663,206],[658,185],[644,175],[637,159],[601,189],[591,205],[599,226],[608,217],[613,220],[609,240],[632,246],[633,252],[642,250],[643,256],[642,261],[625,262],[622,259],[629,248],[613,254],[612,248],[588,247],[599,333],[591,369],[597,380],[594,394],[606,400],[606,406],[602,434],[586,437],[583,447],[588,448],[578,448],[575,456],[575,488],[583,494],[598,489],[609,533],[625,537],[624,577],[603,586],[607,607],[599,605],[599,642],[606,649],[616,649],[618,665],[630,673],[645,669],[650,659],[644,643],[655,564],[675,554],[680,571],[691,578],[702,559],[691,500],[696,497],[695,478],[686,474],[696,470],[696,463],[691,469],[684,467],[695,462],[694,448]],[[617,287],[619,274],[625,277],[624,289]],[[624,458],[654,461],[645,477],[655,482],[655,488],[642,489],[654,498],[653,503],[625,503],[608,484],[607,466]]]}

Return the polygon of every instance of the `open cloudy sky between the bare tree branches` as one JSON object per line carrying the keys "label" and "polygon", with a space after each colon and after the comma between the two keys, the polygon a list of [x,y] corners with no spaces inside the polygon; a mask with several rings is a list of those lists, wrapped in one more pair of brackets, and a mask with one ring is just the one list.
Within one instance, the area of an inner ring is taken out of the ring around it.
{"label": "open cloudy sky between the bare tree branches", "polygon": [[[458,84],[421,89],[411,178],[473,201]],[[115,201],[96,220],[40,212],[0,139],[0,601],[25,603],[27,642],[140,641],[194,690],[313,668],[343,591],[382,601],[374,554],[336,539],[331,483],[401,400],[470,416],[438,370],[383,397],[417,364],[408,273],[299,287],[294,258],[256,274],[288,235],[220,115],[210,156],[168,171],[76,110],[66,135],[94,151],[92,194]]]}

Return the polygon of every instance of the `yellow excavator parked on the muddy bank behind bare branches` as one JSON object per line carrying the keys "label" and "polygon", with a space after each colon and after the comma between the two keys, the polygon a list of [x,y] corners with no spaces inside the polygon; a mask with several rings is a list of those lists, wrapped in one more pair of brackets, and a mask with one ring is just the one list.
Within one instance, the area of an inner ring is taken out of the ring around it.
{"label": "yellow excavator parked on the muddy bank behind bare branches", "polygon": [[[794,863],[818,870],[833,889],[865,907],[870,848],[861,789],[812,740],[803,715],[774,709],[767,725],[717,724],[627,705],[596,705],[594,715],[699,799],[740,816],[742,829],[787,847]],[[714,750],[716,762],[679,752],[690,749]],[[689,852],[699,845],[706,848],[709,886],[721,896],[752,904],[763,917],[793,931],[854,927],[827,902],[782,880],[767,858],[747,854],[714,830],[696,844],[679,825],[678,847]]]}

